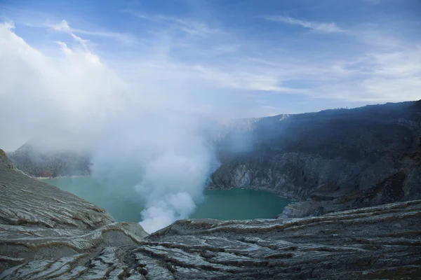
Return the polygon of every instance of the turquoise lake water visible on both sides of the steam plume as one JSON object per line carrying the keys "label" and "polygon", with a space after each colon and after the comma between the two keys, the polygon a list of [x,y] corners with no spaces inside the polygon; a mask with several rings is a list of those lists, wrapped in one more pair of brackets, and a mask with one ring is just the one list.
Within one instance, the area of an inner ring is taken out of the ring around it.
{"label": "turquoise lake water visible on both sides of the steam plume", "polygon": [[[144,209],[133,188],[108,186],[93,177],[43,179],[46,183],[96,204],[116,221],[138,222]],[[261,190],[205,190],[205,199],[189,218],[272,218],[283,211],[288,200]]]}

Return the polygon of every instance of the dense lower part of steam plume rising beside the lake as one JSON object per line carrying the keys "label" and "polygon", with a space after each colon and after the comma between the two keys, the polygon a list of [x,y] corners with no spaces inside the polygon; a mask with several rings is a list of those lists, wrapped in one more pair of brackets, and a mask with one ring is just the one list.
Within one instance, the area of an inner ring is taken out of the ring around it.
{"label": "dense lower part of steam plume rising beside the lake", "polygon": [[192,214],[212,167],[210,152],[201,139],[192,138],[149,162],[136,187],[147,198],[148,208],[142,211],[140,223],[147,232]]}

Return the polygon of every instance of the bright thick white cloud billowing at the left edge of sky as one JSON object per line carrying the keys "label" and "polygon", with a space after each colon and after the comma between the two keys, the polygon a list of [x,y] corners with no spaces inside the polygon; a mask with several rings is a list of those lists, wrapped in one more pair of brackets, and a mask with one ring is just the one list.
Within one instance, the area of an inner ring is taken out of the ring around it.
{"label": "bright thick white cloud billowing at the left edge of sky", "polygon": [[[0,25],[0,125],[8,135],[2,138],[6,149],[56,130],[90,141],[105,112],[121,105],[124,86],[97,55],[57,43],[64,56],[48,57],[16,36],[13,25]],[[77,138],[60,140],[66,137]]]}

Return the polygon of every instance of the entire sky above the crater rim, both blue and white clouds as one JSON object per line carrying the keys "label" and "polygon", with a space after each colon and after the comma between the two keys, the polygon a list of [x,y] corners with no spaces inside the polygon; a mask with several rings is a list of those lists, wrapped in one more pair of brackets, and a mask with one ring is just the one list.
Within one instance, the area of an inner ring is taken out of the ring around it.
{"label": "entire sky above the crater rim, both blue and white clouds", "polygon": [[6,151],[124,112],[262,117],[420,89],[419,0],[0,0]]}

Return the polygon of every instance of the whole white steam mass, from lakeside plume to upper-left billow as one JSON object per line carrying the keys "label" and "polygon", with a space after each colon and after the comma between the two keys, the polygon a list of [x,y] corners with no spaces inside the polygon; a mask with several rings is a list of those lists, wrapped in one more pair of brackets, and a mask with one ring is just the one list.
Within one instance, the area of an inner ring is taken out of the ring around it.
{"label": "whole white steam mass, from lakeside plume to upper-left billow", "polygon": [[206,137],[210,122],[198,110],[222,103],[210,101],[208,81],[142,68],[125,80],[72,29],[65,31],[73,44],[54,44],[55,55],[32,47],[13,29],[0,24],[2,148],[36,139],[46,150],[88,151],[93,176],[119,193],[135,190],[146,204],[140,223],[147,232],[187,218],[218,166]]}

